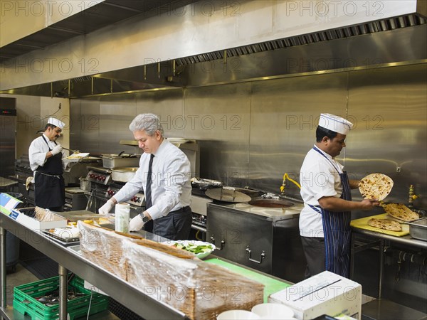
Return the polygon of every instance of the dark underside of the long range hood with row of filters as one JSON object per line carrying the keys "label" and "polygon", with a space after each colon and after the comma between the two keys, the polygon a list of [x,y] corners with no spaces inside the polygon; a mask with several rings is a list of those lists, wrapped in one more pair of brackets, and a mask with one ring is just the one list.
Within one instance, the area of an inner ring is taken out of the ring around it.
{"label": "dark underside of the long range hood with row of filters", "polygon": [[412,14],[2,93],[74,98],[426,63],[426,1],[416,4]]}

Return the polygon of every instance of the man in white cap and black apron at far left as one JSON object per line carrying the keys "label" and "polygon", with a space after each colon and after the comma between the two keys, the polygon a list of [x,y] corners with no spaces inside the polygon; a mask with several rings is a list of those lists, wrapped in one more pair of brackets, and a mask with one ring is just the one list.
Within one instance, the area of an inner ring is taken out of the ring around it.
{"label": "man in white cap and black apron at far left", "polygon": [[34,171],[34,202],[44,209],[61,212],[65,204],[62,146],[56,142],[65,124],[50,117],[45,131],[31,142],[28,149]]}

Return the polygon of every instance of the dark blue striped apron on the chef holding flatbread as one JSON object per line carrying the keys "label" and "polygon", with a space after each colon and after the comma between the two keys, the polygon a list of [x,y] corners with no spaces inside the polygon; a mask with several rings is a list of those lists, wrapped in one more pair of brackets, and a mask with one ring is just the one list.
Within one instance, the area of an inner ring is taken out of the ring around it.
{"label": "dark blue striped apron on the chef holding flatbread", "polygon": [[[313,147],[315,151],[322,152]],[[325,154],[322,154],[325,156]],[[327,156],[325,156],[327,159]],[[330,159],[327,159],[330,161]],[[352,193],[350,189],[349,177],[347,172],[342,174],[336,166],[330,161],[335,170],[337,170],[341,178],[342,194],[344,200],[351,201]],[[323,233],[325,235],[325,250],[326,250],[326,270],[339,274],[342,277],[349,277],[350,270],[350,246],[352,240],[352,229],[350,228],[351,213],[350,211],[330,211],[320,208],[320,206],[311,206],[317,213],[322,215]]]}

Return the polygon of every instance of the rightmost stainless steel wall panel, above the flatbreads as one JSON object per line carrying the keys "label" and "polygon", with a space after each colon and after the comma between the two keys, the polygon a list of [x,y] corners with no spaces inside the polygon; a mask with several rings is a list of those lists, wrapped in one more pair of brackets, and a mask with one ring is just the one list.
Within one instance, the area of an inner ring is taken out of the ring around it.
{"label": "rightmost stainless steel wall panel, above the flatbreads", "polygon": [[347,170],[355,178],[393,178],[388,201],[406,202],[411,184],[426,195],[426,83],[426,64],[349,74],[349,120],[356,126],[347,137]]}

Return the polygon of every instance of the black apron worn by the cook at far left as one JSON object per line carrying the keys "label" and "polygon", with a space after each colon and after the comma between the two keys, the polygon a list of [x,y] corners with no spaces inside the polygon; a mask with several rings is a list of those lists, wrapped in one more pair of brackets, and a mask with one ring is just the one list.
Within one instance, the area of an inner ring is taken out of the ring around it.
{"label": "black apron worn by the cook at far left", "polygon": [[[43,140],[48,145],[45,137]],[[56,142],[55,142],[56,144]],[[65,204],[65,182],[62,176],[62,154],[56,154],[46,160],[43,166],[38,166],[34,176],[34,202],[43,209],[61,208]],[[62,210],[61,210],[62,211]]]}

